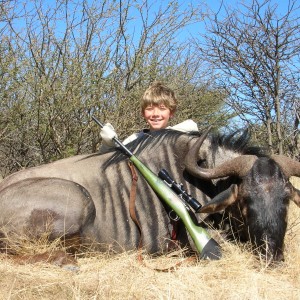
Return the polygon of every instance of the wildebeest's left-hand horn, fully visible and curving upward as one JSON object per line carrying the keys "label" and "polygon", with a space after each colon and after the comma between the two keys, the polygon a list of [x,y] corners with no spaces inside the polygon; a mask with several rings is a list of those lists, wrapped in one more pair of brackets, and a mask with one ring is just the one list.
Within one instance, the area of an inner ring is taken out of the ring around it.
{"label": "wildebeest's left-hand horn, fully visible and curving upward", "polygon": [[209,132],[211,127],[208,128],[198,139],[198,141],[192,146],[185,157],[186,170],[196,177],[204,179],[214,179],[227,176],[243,177],[252,168],[257,157],[255,155],[242,155],[226,161],[225,163],[217,166],[213,169],[205,169],[198,166],[198,154],[199,150]]}

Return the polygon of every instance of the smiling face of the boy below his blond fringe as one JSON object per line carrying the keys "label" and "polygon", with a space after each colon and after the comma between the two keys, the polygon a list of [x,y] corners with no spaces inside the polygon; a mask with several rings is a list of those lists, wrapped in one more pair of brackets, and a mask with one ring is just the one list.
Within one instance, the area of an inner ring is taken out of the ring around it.
{"label": "smiling face of the boy below his blond fringe", "polygon": [[149,105],[144,109],[143,117],[149,124],[150,130],[155,131],[166,128],[173,113],[164,104]]}

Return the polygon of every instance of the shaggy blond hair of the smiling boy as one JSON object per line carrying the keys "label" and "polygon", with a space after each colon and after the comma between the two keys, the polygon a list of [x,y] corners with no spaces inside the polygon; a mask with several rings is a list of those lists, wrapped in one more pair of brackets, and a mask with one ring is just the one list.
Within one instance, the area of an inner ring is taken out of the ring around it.
{"label": "shaggy blond hair of the smiling boy", "polygon": [[141,110],[144,112],[147,106],[160,104],[168,107],[171,112],[175,112],[177,99],[173,90],[156,81],[145,91],[141,100]]}

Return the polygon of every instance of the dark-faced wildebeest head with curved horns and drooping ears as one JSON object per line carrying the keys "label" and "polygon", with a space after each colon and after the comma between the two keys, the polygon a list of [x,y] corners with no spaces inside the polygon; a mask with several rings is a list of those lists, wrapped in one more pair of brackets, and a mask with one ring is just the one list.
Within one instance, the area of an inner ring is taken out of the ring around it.
{"label": "dark-faced wildebeest head with curved horns and drooping ears", "polygon": [[300,177],[300,163],[286,156],[258,157],[241,155],[212,169],[199,167],[200,147],[208,132],[194,144],[186,157],[189,173],[202,179],[235,178],[227,190],[204,205],[200,212],[214,213],[226,209],[234,218],[237,211],[242,222],[233,230],[241,240],[251,243],[269,260],[283,260],[289,200],[300,207],[300,191],[289,182]]}

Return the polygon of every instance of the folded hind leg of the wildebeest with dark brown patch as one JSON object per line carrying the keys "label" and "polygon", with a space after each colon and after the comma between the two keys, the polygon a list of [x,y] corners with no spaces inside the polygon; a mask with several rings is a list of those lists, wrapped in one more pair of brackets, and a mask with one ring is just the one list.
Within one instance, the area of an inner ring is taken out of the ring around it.
{"label": "folded hind leg of the wildebeest with dark brown patch", "polygon": [[[2,251],[13,250],[9,241],[24,238],[74,239],[85,235],[95,217],[86,189],[58,178],[26,179],[0,193]],[[86,237],[85,237],[86,238]]]}

